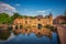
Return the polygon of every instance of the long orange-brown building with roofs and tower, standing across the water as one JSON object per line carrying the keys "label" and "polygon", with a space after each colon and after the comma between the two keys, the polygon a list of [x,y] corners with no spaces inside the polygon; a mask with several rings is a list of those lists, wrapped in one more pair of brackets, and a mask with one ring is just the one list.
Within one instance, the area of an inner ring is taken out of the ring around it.
{"label": "long orange-brown building with roofs and tower, standing across the water", "polygon": [[47,16],[43,16],[43,15],[37,15],[34,18],[16,18],[13,21],[14,25],[22,25],[22,26],[38,26],[38,25],[53,25],[53,15],[47,15]]}

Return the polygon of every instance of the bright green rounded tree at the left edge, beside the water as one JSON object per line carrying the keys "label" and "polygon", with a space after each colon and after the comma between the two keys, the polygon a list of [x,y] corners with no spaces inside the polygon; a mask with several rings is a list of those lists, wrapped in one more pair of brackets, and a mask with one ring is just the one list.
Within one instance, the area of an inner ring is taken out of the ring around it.
{"label": "bright green rounded tree at the left edge, beside the water", "polygon": [[7,24],[11,23],[11,18],[9,16],[9,14],[0,13],[0,24],[2,23],[7,23]]}

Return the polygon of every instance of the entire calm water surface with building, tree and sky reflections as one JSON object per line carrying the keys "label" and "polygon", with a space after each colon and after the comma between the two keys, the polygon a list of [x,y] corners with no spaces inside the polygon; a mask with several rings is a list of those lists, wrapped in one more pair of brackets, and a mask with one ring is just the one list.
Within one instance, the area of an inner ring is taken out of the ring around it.
{"label": "entire calm water surface with building, tree and sky reflections", "polygon": [[0,40],[8,40],[0,44],[58,44],[57,34],[45,29],[33,28],[0,32]]}

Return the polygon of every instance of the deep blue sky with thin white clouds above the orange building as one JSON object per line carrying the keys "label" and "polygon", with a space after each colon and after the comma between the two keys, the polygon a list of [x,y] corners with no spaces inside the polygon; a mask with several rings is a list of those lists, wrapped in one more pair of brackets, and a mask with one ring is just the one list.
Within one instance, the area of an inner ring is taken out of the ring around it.
{"label": "deep blue sky with thin white clouds above the orange building", "polygon": [[12,6],[23,15],[46,15],[52,12],[57,16],[66,10],[66,0],[0,0],[0,2]]}

